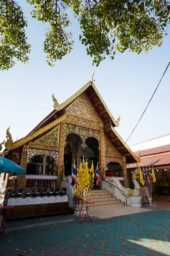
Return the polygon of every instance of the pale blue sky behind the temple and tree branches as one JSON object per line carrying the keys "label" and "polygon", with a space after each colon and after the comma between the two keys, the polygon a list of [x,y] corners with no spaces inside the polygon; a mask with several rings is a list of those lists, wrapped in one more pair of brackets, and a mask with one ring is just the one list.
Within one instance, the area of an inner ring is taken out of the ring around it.
{"label": "pale blue sky behind the temple and tree branches", "polygon": [[[26,0],[18,0],[28,20],[27,37],[31,44],[29,64],[17,63],[8,71],[0,71],[0,142],[11,126],[13,140],[26,136],[53,110],[52,94],[59,104],[77,92],[91,78],[92,58],[79,41],[79,23],[71,15],[75,45],[73,51],[54,67],[49,67],[43,42],[48,24],[33,19],[32,7]],[[154,47],[148,54],[116,52],[115,59],[103,61],[95,68],[95,82],[99,93],[113,117],[121,116],[116,130],[127,140],[170,61],[170,35],[162,47]],[[170,132],[170,67],[138,127],[127,144],[138,143]]]}

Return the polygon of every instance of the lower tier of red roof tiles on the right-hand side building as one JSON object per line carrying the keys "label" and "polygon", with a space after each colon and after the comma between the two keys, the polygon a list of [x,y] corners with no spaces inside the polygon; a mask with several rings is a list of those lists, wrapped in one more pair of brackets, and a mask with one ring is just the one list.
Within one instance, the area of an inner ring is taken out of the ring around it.
{"label": "lower tier of red roof tiles on the right-hand side building", "polygon": [[[145,166],[161,166],[161,165],[167,165],[170,166],[170,153],[168,154],[158,154],[153,155],[149,157],[142,157],[141,163],[139,163],[140,167]],[[127,169],[136,169],[137,165],[136,163],[130,163],[127,164]]]}

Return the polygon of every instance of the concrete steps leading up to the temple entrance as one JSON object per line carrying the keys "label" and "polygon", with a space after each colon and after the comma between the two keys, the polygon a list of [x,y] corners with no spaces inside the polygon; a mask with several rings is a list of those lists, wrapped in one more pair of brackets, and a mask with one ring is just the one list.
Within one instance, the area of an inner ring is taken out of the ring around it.
{"label": "concrete steps leading up to the temple entrance", "polygon": [[125,203],[122,203],[116,197],[113,197],[107,190],[92,190],[93,195],[88,197],[88,201],[94,201],[95,204],[89,204],[90,209],[97,209],[101,207],[109,206],[122,206]]}

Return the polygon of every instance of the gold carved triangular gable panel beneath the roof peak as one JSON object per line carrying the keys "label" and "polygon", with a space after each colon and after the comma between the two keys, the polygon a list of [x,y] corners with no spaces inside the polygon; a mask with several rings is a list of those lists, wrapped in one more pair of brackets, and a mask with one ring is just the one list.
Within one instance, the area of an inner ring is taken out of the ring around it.
{"label": "gold carved triangular gable panel beneath the roof peak", "polygon": [[82,93],[73,103],[71,103],[71,105],[68,106],[68,108],[66,108],[66,111],[68,114],[101,122],[101,119],[96,113],[86,93]]}

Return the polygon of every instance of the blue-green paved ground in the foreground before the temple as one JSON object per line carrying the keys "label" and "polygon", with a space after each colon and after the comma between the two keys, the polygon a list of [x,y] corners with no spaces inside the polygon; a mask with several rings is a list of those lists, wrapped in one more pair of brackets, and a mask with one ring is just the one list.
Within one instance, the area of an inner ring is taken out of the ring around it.
{"label": "blue-green paved ground in the foreground before the temple", "polygon": [[170,210],[81,224],[69,214],[6,225],[6,234],[0,230],[0,256],[170,256]]}

